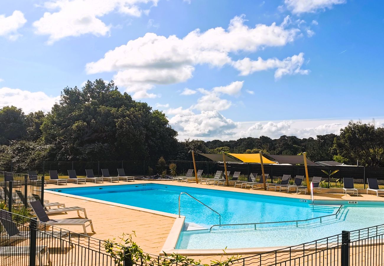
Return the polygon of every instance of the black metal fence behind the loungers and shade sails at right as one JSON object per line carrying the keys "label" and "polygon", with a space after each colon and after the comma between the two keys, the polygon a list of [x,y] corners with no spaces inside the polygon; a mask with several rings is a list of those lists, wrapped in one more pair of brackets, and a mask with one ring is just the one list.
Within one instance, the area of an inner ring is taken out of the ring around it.
{"label": "black metal fence behind the loungers and shade sails at right", "polygon": [[[176,163],[179,172],[187,172],[193,169],[192,161],[171,161]],[[203,176],[214,175],[217,170],[224,171],[223,163],[197,161],[196,168],[203,170]],[[326,171],[324,173],[323,171]],[[334,175],[329,176],[335,170],[339,170]],[[246,180],[250,173],[262,174],[261,165],[255,163],[227,163],[227,171],[233,174],[240,171],[240,180]],[[283,175],[305,175],[303,165],[264,165],[264,171],[269,174],[268,182],[279,183]],[[343,178],[352,177],[355,188],[365,189],[368,186],[367,178],[377,178],[380,188],[384,188],[384,167],[361,167],[361,166],[314,166],[308,165],[308,175],[310,177],[320,176],[322,178],[321,187],[323,188],[343,188]]]}

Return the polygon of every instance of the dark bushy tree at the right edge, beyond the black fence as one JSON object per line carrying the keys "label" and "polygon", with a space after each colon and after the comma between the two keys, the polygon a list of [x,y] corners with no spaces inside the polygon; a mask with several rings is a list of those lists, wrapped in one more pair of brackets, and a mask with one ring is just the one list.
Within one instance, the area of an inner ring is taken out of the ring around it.
{"label": "dark bushy tree at the right edge, beyond the black fence", "polygon": [[374,123],[353,123],[340,130],[340,139],[335,140],[339,155],[349,163],[384,166],[384,128],[376,128]]}

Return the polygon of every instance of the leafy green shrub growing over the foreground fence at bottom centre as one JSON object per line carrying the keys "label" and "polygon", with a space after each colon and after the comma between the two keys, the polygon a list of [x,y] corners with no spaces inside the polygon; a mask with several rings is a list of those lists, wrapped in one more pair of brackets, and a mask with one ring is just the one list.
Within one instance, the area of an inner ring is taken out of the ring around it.
{"label": "leafy green shrub growing over the foreground fence at bottom centre", "polygon": [[116,242],[116,238],[112,240],[107,240],[103,243],[104,248],[108,254],[114,258],[115,265],[124,266],[124,261],[130,261],[133,265],[143,265],[143,266],[189,266],[192,265],[203,265],[209,266],[213,264],[218,264],[219,266],[229,266],[233,264],[235,259],[240,258],[240,256],[231,256],[229,258],[224,258],[225,249],[219,260],[211,261],[210,264],[202,264],[200,260],[195,260],[193,258],[188,258],[180,254],[166,254],[157,259],[157,257],[152,258],[151,255],[145,254],[143,250],[132,240],[132,236],[136,236],[135,231],[132,234],[129,234],[126,239],[124,239],[125,234],[122,235],[121,241]]}

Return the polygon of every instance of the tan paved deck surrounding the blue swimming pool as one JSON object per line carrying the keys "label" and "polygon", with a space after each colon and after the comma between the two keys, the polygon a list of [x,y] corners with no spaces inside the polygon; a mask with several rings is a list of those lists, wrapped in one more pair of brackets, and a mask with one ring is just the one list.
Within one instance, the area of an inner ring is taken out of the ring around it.
{"label": "tan paved deck surrounding the blue swimming pool", "polygon": [[[157,183],[164,185],[178,185],[178,186],[187,186],[194,188],[210,188],[215,190],[223,191],[237,191],[245,192],[258,195],[270,195],[270,196],[284,196],[289,198],[300,198],[300,199],[311,199],[310,195],[296,194],[296,193],[286,193],[286,192],[275,192],[275,191],[265,191],[263,188],[258,188],[254,190],[244,189],[244,188],[233,188],[233,186],[213,186],[205,184],[196,184],[196,183],[181,183],[176,181],[120,181],[117,182],[104,182],[104,183],[68,183],[68,185],[53,185],[48,184],[45,188],[78,188],[86,186],[113,186],[113,185],[127,185],[127,184],[148,184],[148,183]],[[177,216],[175,214],[165,214],[161,212],[154,211],[153,213],[143,211],[140,208],[129,207],[123,204],[113,204],[98,200],[86,200],[84,198],[76,198],[78,196],[63,196],[58,195],[59,193],[45,193],[45,199],[50,200],[51,202],[60,202],[65,203],[66,206],[79,206],[86,208],[88,218],[92,219],[94,224],[94,230],[96,233],[90,233],[88,229],[88,235],[93,236],[98,239],[119,239],[123,233],[130,234],[132,231],[136,232],[136,238],[134,241],[144,250],[144,252],[150,254],[160,254],[163,246],[167,246],[166,240],[167,237],[170,238],[178,237],[179,231],[175,231],[174,224],[179,223]],[[348,200],[348,201],[383,201],[384,197],[376,195],[344,195],[341,193],[314,193],[314,199],[321,200]],[[51,218],[77,218],[75,212],[69,212],[68,214],[50,214]],[[81,226],[76,228],[74,226],[65,227],[71,231],[82,231]],[[173,227],[173,229],[172,229]],[[362,227],[364,227],[362,225]],[[320,236],[319,236],[320,237]],[[315,240],[315,239],[313,239]],[[169,243],[168,243],[169,244]],[[193,257],[197,259],[202,259],[204,263],[209,263],[212,259],[219,259],[220,256],[217,255],[206,255],[206,256],[196,256]]]}

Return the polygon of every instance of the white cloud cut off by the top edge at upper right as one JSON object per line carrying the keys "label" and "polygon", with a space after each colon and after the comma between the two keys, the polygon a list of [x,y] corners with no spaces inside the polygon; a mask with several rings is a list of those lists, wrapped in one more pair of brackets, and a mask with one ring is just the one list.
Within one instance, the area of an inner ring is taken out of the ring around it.
{"label": "white cloud cut off by the top edge at upper right", "polygon": [[318,9],[331,9],[333,5],[346,3],[346,0],[284,0],[284,3],[292,13],[300,14],[314,13]]}

